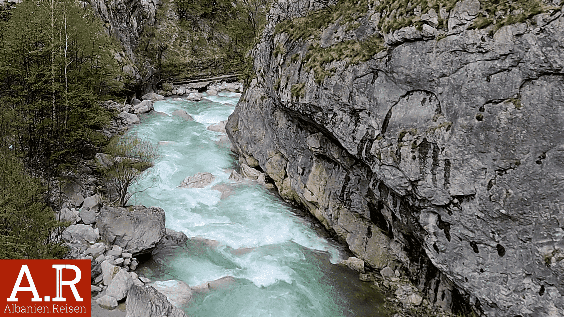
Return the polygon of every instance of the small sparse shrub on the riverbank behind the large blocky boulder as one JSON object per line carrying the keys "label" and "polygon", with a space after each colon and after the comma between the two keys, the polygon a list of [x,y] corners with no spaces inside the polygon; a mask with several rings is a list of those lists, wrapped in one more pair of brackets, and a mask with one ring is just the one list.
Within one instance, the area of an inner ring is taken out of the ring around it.
{"label": "small sparse shrub on the riverbank behind the large blocky boulder", "polygon": [[127,134],[120,138],[114,137],[104,147],[104,153],[111,157],[111,164],[100,166],[100,169],[108,186],[117,194],[114,202],[120,206],[125,206],[135,193],[147,190],[128,192],[131,184],[145,178],[156,182],[156,175],[151,172],[143,173],[161,157],[155,144],[140,139],[135,134]]}

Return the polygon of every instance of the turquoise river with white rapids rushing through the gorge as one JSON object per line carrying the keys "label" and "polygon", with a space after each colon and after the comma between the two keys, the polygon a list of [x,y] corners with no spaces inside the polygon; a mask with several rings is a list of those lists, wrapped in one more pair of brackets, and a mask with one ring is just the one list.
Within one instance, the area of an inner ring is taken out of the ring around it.
{"label": "turquoise river with white rapids rushing through the gorge", "polygon": [[[355,272],[336,265],[346,254],[318,235],[314,224],[265,187],[229,179],[239,163],[225,135],[206,127],[227,120],[239,98],[223,92],[201,102],[156,102],[155,111],[168,115],[144,115],[142,124],[130,130],[160,143],[162,159],[148,170],[153,179],[135,185],[152,187],[129,203],[164,209],[166,227],[195,238],[144,261],[139,274],[191,286],[223,276],[236,279],[223,288],[195,293],[183,307],[191,317],[387,316],[380,312],[380,293]],[[195,121],[171,116],[178,109]],[[178,187],[199,172],[214,174],[213,183]],[[223,198],[211,189],[217,184],[228,188]]]}

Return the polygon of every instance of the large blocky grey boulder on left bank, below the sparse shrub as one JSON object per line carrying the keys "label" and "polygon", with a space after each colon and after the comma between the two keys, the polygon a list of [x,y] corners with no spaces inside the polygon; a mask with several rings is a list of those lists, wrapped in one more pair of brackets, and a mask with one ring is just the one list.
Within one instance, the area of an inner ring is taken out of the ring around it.
{"label": "large blocky grey boulder on left bank, below the sparse shrub", "polygon": [[166,234],[165,212],[157,207],[103,207],[97,221],[102,241],[119,245],[134,256],[151,251]]}

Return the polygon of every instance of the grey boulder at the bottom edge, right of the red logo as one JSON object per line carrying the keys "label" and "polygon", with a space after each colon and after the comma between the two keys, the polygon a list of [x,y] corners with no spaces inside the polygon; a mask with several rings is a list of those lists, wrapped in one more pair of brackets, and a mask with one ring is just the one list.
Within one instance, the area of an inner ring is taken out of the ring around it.
{"label": "grey boulder at the bottom edge, right of the red logo", "polygon": [[126,317],[188,317],[149,285],[133,285],[125,301]]}

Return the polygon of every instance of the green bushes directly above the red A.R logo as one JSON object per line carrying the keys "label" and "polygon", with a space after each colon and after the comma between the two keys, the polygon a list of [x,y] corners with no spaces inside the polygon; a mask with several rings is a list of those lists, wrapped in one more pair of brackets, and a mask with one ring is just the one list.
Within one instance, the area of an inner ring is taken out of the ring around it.
{"label": "green bushes directly above the red A.R logo", "polygon": [[55,220],[55,213],[43,202],[45,188],[24,174],[14,151],[0,148],[0,259],[60,258],[67,248],[56,235],[67,223]]}

